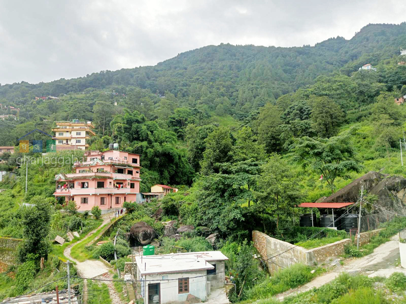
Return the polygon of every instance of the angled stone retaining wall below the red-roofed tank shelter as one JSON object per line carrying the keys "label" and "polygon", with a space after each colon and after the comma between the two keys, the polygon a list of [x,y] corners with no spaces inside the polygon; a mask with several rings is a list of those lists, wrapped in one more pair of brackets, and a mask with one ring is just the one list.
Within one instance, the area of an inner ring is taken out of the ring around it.
{"label": "angled stone retaining wall below the red-roofed tank shelter", "polygon": [[[379,233],[380,229],[360,234],[360,244],[366,244],[370,238]],[[270,274],[280,267],[285,268],[295,263],[314,265],[322,263],[331,257],[344,255],[344,246],[350,245],[350,239],[344,239],[313,249],[305,249],[290,243],[271,238],[259,231],[252,232],[252,241],[261,257],[266,260]],[[355,243],[357,239],[355,238]],[[272,258],[271,258],[272,257]]]}

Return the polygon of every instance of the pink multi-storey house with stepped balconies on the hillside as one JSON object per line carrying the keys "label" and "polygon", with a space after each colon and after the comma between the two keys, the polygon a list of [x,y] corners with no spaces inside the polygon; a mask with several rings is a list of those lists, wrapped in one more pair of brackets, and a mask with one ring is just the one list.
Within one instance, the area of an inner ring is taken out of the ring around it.
{"label": "pink multi-storey house with stepped balconies on the hillside", "polygon": [[99,206],[106,210],[135,202],[140,193],[140,155],[108,150],[87,151],[86,161],[74,164],[76,173],[55,176],[55,197],[75,201],[79,211]]}

